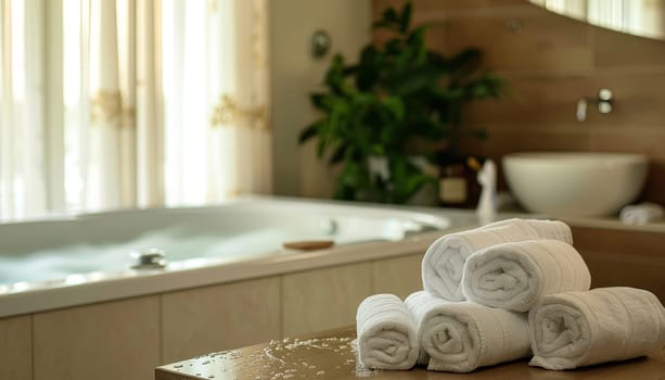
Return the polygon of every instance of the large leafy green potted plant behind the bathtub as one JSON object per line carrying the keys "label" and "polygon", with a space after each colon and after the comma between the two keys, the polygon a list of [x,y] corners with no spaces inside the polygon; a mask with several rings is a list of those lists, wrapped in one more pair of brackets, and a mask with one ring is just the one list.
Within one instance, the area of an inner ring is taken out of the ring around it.
{"label": "large leafy green potted plant behind the bathtub", "polygon": [[436,183],[419,157],[437,165],[459,160],[462,138],[484,136],[463,128],[464,106],[497,98],[504,86],[482,68],[477,49],[451,56],[429,50],[429,25],[411,27],[411,14],[410,2],[386,9],[372,27],[391,37],[365,47],[356,64],[334,55],[324,88],[310,94],[321,118],[300,132],[299,142],[316,139],[319,159],[342,166],[337,199],[406,203]]}

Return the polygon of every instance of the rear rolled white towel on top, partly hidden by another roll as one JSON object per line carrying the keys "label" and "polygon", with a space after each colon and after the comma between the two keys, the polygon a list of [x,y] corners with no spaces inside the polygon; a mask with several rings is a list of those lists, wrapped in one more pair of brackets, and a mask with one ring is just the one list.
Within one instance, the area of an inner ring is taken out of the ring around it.
{"label": "rear rolled white towel on top, partly hidden by another roll", "polygon": [[462,301],[462,268],[472,253],[510,241],[557,239],[573,243],[571,228],[555,220],[509,219],[449,233],[436,240],[422,262],[423,288],[450,301]]}

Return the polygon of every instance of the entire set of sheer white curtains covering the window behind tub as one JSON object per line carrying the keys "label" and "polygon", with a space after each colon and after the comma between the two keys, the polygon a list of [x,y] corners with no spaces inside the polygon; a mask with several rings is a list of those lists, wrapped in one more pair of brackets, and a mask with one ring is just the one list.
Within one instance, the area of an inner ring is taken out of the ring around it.
{"label": "entire set of sheer white curtains covering the window behind tub", "polygon": [[267,0],[0,5],[0,218],[270,191]]}

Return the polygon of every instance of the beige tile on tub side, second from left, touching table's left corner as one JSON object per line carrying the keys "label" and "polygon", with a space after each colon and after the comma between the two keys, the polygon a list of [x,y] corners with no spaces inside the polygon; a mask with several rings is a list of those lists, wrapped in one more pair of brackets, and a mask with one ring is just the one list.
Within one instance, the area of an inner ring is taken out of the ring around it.
{"label": "beige tile on tub side, second from left, touching table's left corner", "polygon": [[150,379],[161,363],[158,316],[158,296],[34,315],[34,379]]}

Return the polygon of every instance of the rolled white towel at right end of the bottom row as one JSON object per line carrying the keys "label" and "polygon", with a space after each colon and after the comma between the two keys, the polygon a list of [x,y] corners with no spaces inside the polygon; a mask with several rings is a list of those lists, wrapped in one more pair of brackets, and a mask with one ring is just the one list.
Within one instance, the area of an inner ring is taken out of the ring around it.
{"label": "rolled white towel at right end of the bottom row", "polygon": [[599,288],[546,295],[528,315],[529,365],[570,369],[648,355],[665,344],[665,309],[651,292]]}

